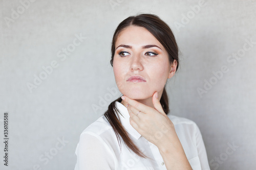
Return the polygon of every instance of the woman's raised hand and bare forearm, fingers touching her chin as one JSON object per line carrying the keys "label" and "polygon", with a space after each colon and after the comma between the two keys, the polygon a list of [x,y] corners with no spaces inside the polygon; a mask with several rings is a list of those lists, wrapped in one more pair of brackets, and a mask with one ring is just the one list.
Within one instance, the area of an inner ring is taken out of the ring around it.
{"label": "woman's raised hand and bare forearm, fingers touching her chin", "polygon": [[127,96],[124,96],[124,98],[122,96],[122,99],[129,104],[127,110],[130,114],[130,124],[145,139],[158,147],[168,170],[191,170],[192,168],[176,134],[174,124],[164,113],[156,96],[157,92],[153,94],[152,98],[155,108],[129,99]]}

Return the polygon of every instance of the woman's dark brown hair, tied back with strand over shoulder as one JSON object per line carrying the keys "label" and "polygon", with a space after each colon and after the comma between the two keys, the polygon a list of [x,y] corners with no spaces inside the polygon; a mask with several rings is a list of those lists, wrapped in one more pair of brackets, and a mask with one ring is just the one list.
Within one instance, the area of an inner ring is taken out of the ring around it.
{"label": "woman's dark brown hair, tied back with strand over shoulder", "polygon": [[[147,29],[156,39],[164,46],[165,50],[168,54],[169,63],[172,64],[174,60],[177,61],[177,68],[179,66],[179,58],[178,58],[178,45],[176,43],[175,37],[173,35],[172,30],[170,30],[169,26],[161,20],[157,15],[153,14],[140,14],[137,16],[130,16],[124,19],[117,27],[112,40],[112,47],[111,47],[111,65],[113,67],[113,60],[115,55],[115,43],[118,38],[120,32],[129,27],[129,26],[137,26],[143,27]],[[166,85],[166,84],[165,84]],[[120,136],[123,139],[125,145],[130,148],[134,153],[136,153],[140,157],[147,157],[145,156],[138,147],[134,144],[131,138],[128,136],[126,130],[120,123],[119,117],[115,115],[115,112],[119,112],[119,110],[115,106],[115,102],[118,101],[121,103],[122,99],[118,98],[117,100],[113,101],[110,105],[108,110],[104,113],[106,119],[108,119],[110,125],[113,127],[117,139],[120,141]],[[166,114],[169,113],[169,104],[168,104],[168,96],[165,90],[165,86],[163,89],[163,93],[160,99],[160,103],[162,108]],[[119,112],[120,113],[120,112]],[[119,136],[120,135],[120,136]],[[120,144],[119,144],[120,146]]]}

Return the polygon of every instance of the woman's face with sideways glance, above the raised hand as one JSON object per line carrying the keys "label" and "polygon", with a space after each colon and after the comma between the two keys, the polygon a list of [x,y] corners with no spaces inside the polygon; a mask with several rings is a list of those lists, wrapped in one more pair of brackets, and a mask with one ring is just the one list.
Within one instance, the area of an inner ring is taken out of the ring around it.
{"label": "woman's face with sideways glance, above the raised hand", "polygon": [[[162,44],[145,28],[129,26],[120,32],[115,48],[113,69],[120,92],[134,100],[150,98],[155,91],[160,96],[166,80],[176,70],[171,71]],[[137,75],[144,81],[127,81]]]}

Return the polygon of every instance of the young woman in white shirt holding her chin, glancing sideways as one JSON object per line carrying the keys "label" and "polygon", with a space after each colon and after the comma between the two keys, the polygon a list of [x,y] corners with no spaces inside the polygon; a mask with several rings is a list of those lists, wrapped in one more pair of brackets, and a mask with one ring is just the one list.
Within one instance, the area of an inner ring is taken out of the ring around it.
{"label": "young woman in white shirt holding her chin, glancing sideways", "polygon": [[75,170],[210,169],[198,126],[167,116],[165,85],[179,66],[167,24],[152,14],[126,18],[110,62],[123,95],[81,133]]}

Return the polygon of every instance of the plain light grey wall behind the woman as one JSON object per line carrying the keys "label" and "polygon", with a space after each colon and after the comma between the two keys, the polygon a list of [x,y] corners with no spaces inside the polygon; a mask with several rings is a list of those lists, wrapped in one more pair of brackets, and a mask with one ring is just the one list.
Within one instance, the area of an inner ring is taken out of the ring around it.
{"label": "plain light grey wall behind the woman", "polygon": [[[197,123],[211,169],[256,167],[255,0],[3,0],[0,8],[0,169],[74,169],[80,133],[121,94],[110,65],[115,28],[144,12],[168,23],[182,54],[167,86],[171,114]],[[35,76],[44,80],[35,85]]]}

